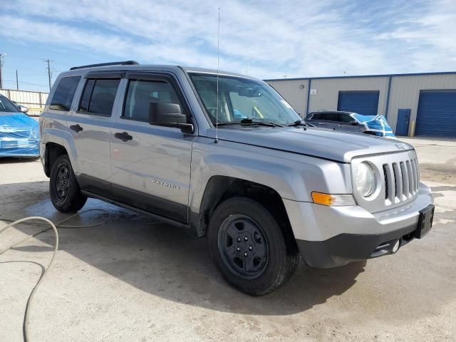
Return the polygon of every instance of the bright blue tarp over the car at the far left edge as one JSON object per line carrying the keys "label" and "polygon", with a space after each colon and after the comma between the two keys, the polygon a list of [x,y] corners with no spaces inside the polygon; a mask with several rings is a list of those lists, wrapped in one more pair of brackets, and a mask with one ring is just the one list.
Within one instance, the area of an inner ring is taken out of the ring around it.
{"label": "bright blue tarp over the car at the far left edge", "polygon": [[0,157],[39,157],[38,122],[24,113],[0,113]]}

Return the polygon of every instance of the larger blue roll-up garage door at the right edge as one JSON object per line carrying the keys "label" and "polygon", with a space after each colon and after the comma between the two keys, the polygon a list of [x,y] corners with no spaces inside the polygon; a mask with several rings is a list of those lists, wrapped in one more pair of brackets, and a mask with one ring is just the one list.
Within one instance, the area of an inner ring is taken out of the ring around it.
{"label": "larger blue roll-up garage door at the right edge", "polygon": [[456,90],[421,90],[415,135],[456,137]]}

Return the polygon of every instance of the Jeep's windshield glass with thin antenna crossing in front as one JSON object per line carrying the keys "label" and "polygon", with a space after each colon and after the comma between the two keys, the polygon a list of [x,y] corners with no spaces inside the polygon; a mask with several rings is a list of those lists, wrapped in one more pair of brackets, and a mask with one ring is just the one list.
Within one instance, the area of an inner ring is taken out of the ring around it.
{"label": "Jeep's windshield glass with thin antenna crossing in front", "polygon": [[[217,75],[190,74],[210,120],[217,122]],[[219,123],[243,119],[287,125],[301,120],[286,100],[267,83],[234,76],[219,76]],[[244,120],[245,122],[245,120]]]}

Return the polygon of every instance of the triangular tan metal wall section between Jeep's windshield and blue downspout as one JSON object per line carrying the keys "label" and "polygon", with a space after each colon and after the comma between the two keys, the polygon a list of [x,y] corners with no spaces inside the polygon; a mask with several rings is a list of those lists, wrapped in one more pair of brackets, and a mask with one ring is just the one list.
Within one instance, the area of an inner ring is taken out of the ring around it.
{"label": "triangular tan metal wall section between Jeep's windshield and blue downspout", "polygon": [[296,112],[303,117],[306,116],[308,80],[280,80],[267,83],[277,90]]}

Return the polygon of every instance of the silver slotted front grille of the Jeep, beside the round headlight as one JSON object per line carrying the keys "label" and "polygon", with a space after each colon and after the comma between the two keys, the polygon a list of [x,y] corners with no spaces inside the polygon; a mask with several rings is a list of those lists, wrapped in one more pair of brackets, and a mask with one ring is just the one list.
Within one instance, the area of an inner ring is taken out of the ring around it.
{"label": "silver slotted front grille of the Jeep, beside the round headlight", "polygon": [[415,157],[383,164],[385,205],[397,204],[413,198],[418,193],[420,177]]}

